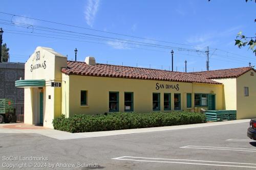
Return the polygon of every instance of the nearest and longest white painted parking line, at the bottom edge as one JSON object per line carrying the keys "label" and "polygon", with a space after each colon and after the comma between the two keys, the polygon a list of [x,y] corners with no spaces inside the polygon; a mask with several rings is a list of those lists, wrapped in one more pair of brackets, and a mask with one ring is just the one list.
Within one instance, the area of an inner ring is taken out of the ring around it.
{"label": "nearest and longest white painted parking line, at the bottom edge", "polygon": [[[194,165],[208,165],[208,166],[256,168],[255,163],[241,163],[241,162],[219,162],[219,161],[189,160],[189,159],[146,158],[146,157],[133,157],[133,156],[122,156],[122,157],[117,157],[117,158],[112,158],[112,159],[140,161],[140,162],[180,163],[180,164],[194,164]],[[198,163],[196,163],[196,162],[198,162]],[[254,166],[251,166],[251,165],[254,165]]]}

